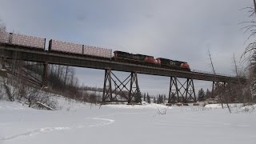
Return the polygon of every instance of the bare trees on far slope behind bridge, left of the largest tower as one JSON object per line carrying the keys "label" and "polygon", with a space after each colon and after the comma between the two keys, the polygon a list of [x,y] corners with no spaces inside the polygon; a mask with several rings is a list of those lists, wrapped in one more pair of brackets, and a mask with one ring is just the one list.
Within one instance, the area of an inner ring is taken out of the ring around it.
{"label": "bare trees on far slope behind bridge, left of the largest tower", "polygon": [[[42,65],[30,65],[28,69],[41,74]],[[79,86],[78,78],[75,77],[75,70],[72,66],[48,65],[48,90],[54,94],[60,94],[66,98],[73,98],[81,102],[100,102],[102,88]]]}

